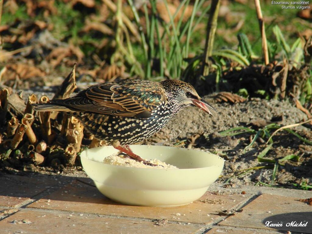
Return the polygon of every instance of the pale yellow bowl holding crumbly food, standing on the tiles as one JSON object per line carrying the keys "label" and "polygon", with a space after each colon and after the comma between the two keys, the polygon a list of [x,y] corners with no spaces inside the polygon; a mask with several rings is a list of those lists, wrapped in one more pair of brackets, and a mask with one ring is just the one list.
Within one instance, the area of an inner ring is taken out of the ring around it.
{"label": "pale yellow bowl holding crumbly food, standing on the tiles", "polygon": [[131,145],[135,154],[179,169],[133,168],[103,163],[112,146],[80,154],[85,172],[110,199],[137,206],[180,206],[201,197],[222,172],[224,160],[203,151],[155,145]]}

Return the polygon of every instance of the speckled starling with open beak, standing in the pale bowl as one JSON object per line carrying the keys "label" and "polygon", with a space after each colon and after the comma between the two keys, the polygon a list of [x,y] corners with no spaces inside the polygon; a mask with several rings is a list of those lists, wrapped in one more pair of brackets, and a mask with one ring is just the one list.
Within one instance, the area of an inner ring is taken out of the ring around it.
{"label": "speckled starling with open beak, standing in the pale bowl", "polygon": [[35,105],[36,111],[66,111],[98,139],[148,165],[129,144],[157,133],[183,108],[197,106],[211,116],[209,107],[217,111],[181,80],[118,80],[92,85],[71,98]]}

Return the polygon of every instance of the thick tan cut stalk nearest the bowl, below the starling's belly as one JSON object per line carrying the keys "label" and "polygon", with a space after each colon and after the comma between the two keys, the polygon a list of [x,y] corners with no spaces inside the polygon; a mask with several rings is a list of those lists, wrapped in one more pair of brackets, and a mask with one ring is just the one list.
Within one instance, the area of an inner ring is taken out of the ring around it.
{"label": "thick tan cut stalk nearest the bowl, below the starling's belly", "polygon": [[81,141],[83,138],[83,125],[75,117],[71,117],[66,130],[66,138],[68,143],[73,144],[76,152],[80,151]]}

